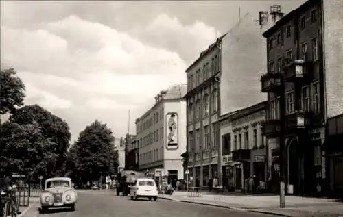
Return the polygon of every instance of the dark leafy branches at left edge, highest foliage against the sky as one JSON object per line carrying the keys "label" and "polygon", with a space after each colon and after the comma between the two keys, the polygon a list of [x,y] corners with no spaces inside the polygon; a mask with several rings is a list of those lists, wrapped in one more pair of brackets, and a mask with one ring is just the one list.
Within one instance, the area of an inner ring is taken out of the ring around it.
{"label": "dark leafy branches at left edge, highest foliage against the sky", "polygon": [[13,113],[17,107],[24,105],[25,85],[13,68],[1,70],[0,73],[0,114]]}

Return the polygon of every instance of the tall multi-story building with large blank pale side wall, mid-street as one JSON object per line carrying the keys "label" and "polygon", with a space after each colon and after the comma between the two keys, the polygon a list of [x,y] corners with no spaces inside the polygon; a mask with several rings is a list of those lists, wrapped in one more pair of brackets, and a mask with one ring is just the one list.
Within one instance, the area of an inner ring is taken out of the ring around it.
{"label": "tall multi-story building with large blank pale side wall, mid-street", "polygon": [[246,14],[187,68],[188,168],[204,185],[220,166],[219,116],[266,100],[258,82],[265,71],[265,39],[257,17]]}

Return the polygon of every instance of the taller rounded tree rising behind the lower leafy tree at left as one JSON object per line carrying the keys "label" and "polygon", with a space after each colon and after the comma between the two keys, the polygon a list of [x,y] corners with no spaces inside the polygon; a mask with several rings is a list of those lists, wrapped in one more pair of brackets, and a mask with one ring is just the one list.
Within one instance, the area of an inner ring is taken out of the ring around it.
{"label": "taller rounded tree rising behind the lower leafy tree at left", "polygon": [[64,163],[67,159],[67,150],[71,139],[67,122],[39,105],[25,105],[16,110],[9,120],[11,123],[22,126],[36,125],[40,129],[42,137],[40,141],[43,141],[46,149],[45,159],[47,161],[54,159],[54,163],[42,162],[40,167],[49,166],[54,175],[64,175]]}

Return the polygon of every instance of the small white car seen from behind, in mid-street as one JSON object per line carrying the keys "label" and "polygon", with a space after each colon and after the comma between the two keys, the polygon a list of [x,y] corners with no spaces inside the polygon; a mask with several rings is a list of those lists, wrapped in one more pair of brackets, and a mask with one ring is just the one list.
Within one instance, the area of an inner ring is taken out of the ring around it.
{"label": "small white car seen from behind, in mid-street", "polygon": [[158,189],[154,179],[139,178],[134,181],[130,188],[131,199],[148,198],[157,201]]}

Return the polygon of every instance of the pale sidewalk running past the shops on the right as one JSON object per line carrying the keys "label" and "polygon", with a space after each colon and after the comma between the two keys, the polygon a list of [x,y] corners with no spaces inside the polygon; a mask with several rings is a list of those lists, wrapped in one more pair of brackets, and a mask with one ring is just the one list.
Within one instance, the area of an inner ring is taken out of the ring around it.
{"label": "pale sidewalk running past the shops on the right", "polygon": [[343,216],[343,203],[333,199],[286,196],[286,208],[279,208],[279,196],[264,194],[220,195],[202,193],[200,197],[187,197],[187,192],[174,192],[173,195],[160,195],[169,199],[187,203],[213,205],[229,209],[241,209],[250,212],[262,212],[279,216]]}

